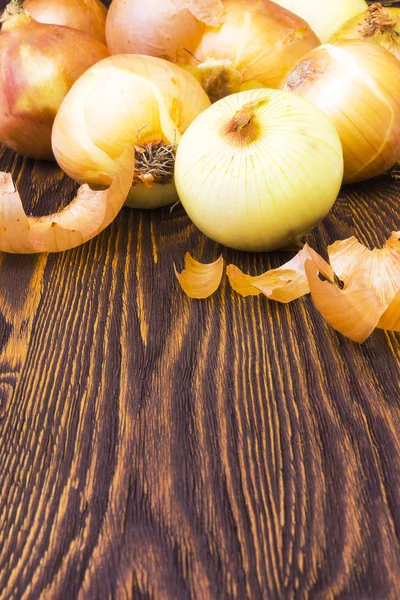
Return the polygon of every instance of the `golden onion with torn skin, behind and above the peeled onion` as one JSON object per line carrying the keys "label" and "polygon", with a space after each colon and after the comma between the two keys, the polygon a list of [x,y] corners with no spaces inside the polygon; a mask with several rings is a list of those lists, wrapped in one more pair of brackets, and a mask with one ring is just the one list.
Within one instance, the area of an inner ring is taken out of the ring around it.
{"label": "golden onion with torn skin, behind and above the peeled onion", "polygon": [[220,27],[206,27],[185,63],[212,101],[260,86],[277,88],[319,39],[310,26],[274,2],[225,0]]}

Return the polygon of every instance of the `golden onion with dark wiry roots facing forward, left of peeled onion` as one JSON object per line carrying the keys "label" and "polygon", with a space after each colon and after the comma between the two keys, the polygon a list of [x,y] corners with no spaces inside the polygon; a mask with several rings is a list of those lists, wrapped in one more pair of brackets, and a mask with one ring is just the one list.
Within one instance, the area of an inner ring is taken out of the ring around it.
{"label": "golden onion with dark wiry roots facing forward, left of peeled onion", "polygon": [[200,84],[177,65],[139,55],[111,56],[90,68],[54,122],[54,154],[79,183],[109,186],[116,158],[135,148],[129,206],[174,202],[175,150],[182,133],[210,105]]}

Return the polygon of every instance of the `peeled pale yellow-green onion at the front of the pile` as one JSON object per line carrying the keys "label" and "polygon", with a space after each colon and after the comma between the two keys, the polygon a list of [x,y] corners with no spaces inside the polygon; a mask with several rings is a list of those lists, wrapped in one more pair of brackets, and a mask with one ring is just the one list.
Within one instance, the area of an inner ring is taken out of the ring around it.
{"label": "peeled pale yellow-green onion at the front of the pile", "polygon": [[232,94],[199,115],[175,164],[179,198],[194,224],[250,251],[298,241],[328,213],[342,176],[331,121],[294,94],[266,89]]}

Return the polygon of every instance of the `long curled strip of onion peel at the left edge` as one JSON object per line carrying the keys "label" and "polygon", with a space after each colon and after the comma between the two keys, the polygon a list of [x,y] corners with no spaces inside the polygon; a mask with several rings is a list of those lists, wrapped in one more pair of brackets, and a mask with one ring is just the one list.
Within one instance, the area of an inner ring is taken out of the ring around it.
{"label": "long curled strip of onion peel at the left edge", "polygon": [[11,175],[0,173],[0,251],[61,252],[99,234],[114,220],[128,195],[134,170],[133,150],[125,149],[115,162],[108,189],[94,191],[85,184],[66,208],[45,217],[27,216]]}

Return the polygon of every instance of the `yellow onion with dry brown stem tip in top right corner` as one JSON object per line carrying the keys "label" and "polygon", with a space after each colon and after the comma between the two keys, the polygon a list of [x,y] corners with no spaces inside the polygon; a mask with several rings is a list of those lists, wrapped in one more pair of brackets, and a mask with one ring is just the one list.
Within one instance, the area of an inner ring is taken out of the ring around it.
{"label": "yellow onion with dry brown stem tip in top right corner", "polygon": [[371,4],[346,21],[330,41],[352,39],[376,42],[400,59],[400,8],[383,7],[380,2]]}

